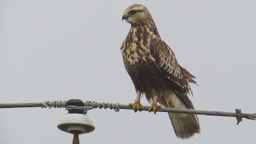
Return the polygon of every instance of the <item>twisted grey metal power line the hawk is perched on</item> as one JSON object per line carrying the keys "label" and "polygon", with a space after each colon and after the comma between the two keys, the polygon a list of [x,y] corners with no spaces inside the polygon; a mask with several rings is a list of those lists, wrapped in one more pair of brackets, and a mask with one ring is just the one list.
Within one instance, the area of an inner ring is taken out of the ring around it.
{"label": "twisted grey metal power line the hawk is perched on", "polygon": [[[0,108],[22,108],[22,107],[42,107],[42,108],[66,108],[66,109],[81,109],[81,110],[92,110],[92,109],[110,109],[119,111],[120,109],[133,110],[129,105],[122,105],[119,103],[112,102],[83,102],[84,106],[66,106],[66,101],[46,101],[46,102],[29,102],[29,103],[0,103]],[[139,111],[149,111],[149,106],[141,106]],[[181,114],[202,114],[211,116],[223,116],[223,117],[235,117],[238,123],[242,122],[242,118],[255,120],[256,114],[242,113],[242,110],[236,109],[235,113],[216,111],[216,110],[191,110],[191,109],[178,109],[178,108],[158,108],[158,112],[170,112],[170,113],[181,113]],[[237,124],[238,124],[237,123]]]}

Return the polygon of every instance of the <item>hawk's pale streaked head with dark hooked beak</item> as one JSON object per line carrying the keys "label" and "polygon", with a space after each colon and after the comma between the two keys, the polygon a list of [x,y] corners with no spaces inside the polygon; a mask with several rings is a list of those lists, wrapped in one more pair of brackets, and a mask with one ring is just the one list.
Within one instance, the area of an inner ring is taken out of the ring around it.
{"label": "hawk's pale streaked head with dark hooked beak", "polygon": [[139,23],[145,23],[146,21],[152,20],[149,10],[146,6],[141,4],[134,4],[126,8],[122,14],[122,20],[126,19],[132,25]]}

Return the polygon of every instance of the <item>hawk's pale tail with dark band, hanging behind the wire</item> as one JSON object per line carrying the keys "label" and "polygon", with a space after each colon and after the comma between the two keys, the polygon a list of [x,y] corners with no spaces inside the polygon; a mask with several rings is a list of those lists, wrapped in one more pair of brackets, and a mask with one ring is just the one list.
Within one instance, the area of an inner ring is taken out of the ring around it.
{"label": "hawk's pale tail with dark band, hanging behind the wire", "polygon": [[[165,107],[187,109],[186,105],[176,96],[176,94],[171,96],[168,94],[165,98],[162,97],[160,103]],[[200,133],[198,118],[195,114],[168,114],[174,127],[174,132],[178,138],[187,139],[192,137],[195,133]]]}

